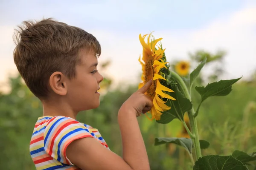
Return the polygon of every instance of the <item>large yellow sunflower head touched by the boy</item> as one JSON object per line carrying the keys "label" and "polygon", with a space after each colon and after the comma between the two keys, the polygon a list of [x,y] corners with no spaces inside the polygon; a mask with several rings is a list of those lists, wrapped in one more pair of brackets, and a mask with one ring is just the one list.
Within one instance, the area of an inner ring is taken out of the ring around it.
{"label": "large yellow sunflower head touched by the boy", "polygon": [[[166,80],[166,74],[164,74],[164,69],[168,70],[166,64],[166,57],[164,54],[165,49],[162,48],[162,45],[157,46],[157,42],[162,40],[159,38],[157,40],[151,40],[151,34],[148,35],[147,43],[145,42],[145,37],[148,34],[143,35],[143,37],[139,36],[140,43],[143,47],[143,57],[139,58],[140,64],[142,65],[142,83],[139,84],[139,88],[143,87],[146,82],[149,80],[153,80],[151,87],[145,93],[151,99],[153,99],[153,107],[151,108],[151,120],[156,119],[160,120],[160,115],[163,111],[169,110],[171,107],[167,106],[165,103],[168,99],[175,100],[169,94],[164,93],[164,91],[174,92],[171,89],[167,88],[163,85],[163,82]],[[167,100],[163,100],[166,98]],[[148,116],[147,116],[148,117]]]}

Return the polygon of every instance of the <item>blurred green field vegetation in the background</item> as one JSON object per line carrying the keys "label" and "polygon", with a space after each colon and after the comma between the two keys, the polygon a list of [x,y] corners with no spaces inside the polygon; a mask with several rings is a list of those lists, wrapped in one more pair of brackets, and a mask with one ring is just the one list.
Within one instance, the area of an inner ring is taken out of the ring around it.
{"label": "blurred green field vegetation in the background", "polygon": [[[200,62],[207,52],[199,51],[191,54],[192,62]],[[217,55],[218,54],[218,55]],[[217,53],[215,60],[223,58],[224,53]],[[213,54],[212,54],[213,55]],[[211,54],[208,55],[211,58]],[[104,65],[105,67],[106,65]],[[204,69],[203,69],[204,71]],[[218,79],[222,73],[202,77],[196,85],[206,85],[212,79]],[[42,105],[23,84],[20,76],[10,78],[11,91],[0,94],[0,169],[2,170],[34,170],[35,166],[29,154],[29,142],[35,122],[42,116]],[[105,90],[111,85],[106,78],[103,83]],[[103,87],[103,86],[102,86]],[[121,85],[120,85],[121,87]],[[256,151],[256,78],[250,82],[240,80],[233,85],[233,91],[228,96],[211,97],[201,106],[198,116],[200,138],[210,142],[210,147],[203,150],[203,155],[229,155],[238,149],[247,153]],[[108,91],[101,98],[99,108],[79,113],[77,119],[98,128],[110,149],[121,156],[122,146],[117,112],[122,103],[137,90],[137,85],[130,86],[126,91],[121,88]],[[195,107],[199,95],[192,91]],[[154,146],[155,137],[177,136],[183,130],[181,123],[174,120],[167,125],[149,121],[144,115],[138,118],[151,170],[186,170],[191,169],[186,152],[174,144]]]}

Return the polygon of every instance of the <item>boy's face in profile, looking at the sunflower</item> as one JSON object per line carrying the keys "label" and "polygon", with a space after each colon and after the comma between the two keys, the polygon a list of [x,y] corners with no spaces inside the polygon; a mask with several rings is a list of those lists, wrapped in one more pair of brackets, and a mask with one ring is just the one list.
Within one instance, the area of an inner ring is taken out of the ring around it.
{"label": "boy's face in profile, looking at the sunflower", "polygon": [[99,107],[99,83],[103,77],[97,71],[98,59],[93,53],[81,52],[76,66],[76,78],[67,83],[67,97],[74,111]]}

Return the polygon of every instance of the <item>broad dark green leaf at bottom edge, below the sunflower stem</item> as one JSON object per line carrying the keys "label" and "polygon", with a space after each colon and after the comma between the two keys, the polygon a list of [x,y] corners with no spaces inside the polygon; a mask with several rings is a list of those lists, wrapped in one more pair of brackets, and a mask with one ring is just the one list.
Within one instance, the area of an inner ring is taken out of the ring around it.
{"label": "broad dark green leaf at bottom edge, below the sunflower stem", "polygon": [[248,170],[233,156],[208,155],[195,161],[193,170]]}

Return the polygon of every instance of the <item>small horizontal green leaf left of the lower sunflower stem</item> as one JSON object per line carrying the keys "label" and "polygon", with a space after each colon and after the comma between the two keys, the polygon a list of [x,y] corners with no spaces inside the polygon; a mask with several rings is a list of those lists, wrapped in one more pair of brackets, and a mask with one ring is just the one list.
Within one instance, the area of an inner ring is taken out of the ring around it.
{"label": "small horizontal green leaf left of the lower sunflower stem", "polygon": [[174,143],[183,146],[189,153],[192,153],[192,140],[189,138],[156,138],[155,146],[160,144]]}

